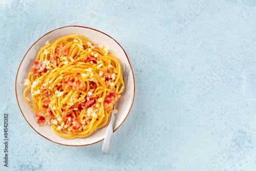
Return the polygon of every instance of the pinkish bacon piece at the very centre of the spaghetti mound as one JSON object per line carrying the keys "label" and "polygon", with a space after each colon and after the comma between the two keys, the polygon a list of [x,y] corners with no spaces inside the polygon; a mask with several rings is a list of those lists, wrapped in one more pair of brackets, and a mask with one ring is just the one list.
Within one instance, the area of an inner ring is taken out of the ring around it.
{"label": "pinkish bacon piece at the very centre of the spaghetti mound", "polygon": [[83,90],[83,83],[80,79],[80,73],[67,75],[63,78],[62,82],[63,90]]}

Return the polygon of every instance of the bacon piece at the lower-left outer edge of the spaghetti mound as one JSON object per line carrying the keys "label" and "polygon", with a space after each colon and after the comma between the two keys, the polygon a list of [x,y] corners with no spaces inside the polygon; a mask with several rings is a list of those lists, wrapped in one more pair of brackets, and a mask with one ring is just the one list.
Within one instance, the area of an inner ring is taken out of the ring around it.
{"label": "bacon piece at the lower-left outer edge of the spaghetti mound", "polygon": [[50,108],[48,108],[47,110],[45,108],[42,108],[35,113],[35,121],[39,126],[45,125],[47,123],[50,125],[52,118],[53,113]]}

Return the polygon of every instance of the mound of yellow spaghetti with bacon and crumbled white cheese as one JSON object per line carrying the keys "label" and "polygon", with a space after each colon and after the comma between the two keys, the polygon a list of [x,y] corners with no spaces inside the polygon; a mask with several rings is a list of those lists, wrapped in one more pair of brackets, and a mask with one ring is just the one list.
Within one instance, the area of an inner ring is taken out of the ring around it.
{"label": "mound of yellow spaghetti with bacon and crumbled white cheese", "polygon": [[[124,88],[117,58],[74,34],[46,42],[25,79],[24,99],[39,126],[62,138],[87,137],[106,124]],[[26,94],[30,91],[31,97]],[[30,99],[33,105],[30,104]]]}

